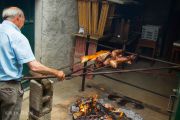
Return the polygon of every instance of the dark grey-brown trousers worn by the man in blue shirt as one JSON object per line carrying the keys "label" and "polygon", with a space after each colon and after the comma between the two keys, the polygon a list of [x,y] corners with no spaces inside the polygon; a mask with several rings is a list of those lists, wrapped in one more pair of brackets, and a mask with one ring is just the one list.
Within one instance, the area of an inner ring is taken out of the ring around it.
{"label": "dark grey-brown trousers worn by the man in blue shirt", "polygon": [[0,82],[0,120],[19,120],[22,99],[20,82]]}

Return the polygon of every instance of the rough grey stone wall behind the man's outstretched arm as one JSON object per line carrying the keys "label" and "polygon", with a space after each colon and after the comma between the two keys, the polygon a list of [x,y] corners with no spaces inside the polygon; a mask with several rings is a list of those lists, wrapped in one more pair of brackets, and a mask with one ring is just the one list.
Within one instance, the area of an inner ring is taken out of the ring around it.
{"label": "rough grey stone wall behind the man's outstretched arm", "polygon": [[43,64],[60,68],[71,63],[77,32],[76,0],[36,0],[35,55]]}

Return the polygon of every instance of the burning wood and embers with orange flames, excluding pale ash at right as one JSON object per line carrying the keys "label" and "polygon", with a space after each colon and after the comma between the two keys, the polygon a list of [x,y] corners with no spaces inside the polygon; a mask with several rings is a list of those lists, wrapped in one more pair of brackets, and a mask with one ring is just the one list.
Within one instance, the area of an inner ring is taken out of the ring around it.
{"label": "burning wood and embers with orange flames, excluding pale ash at right", "polygon": [[101,103],[97,95],[78,99],[72,106],[71,113],[75,120],[121,120],[124,117],[124,113],[116,111],[112,105]]}

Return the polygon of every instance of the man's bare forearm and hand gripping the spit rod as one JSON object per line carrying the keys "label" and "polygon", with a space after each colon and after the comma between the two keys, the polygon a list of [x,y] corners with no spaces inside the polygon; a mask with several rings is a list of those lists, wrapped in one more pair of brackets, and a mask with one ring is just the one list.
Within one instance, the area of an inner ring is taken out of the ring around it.
{"label": "man's bare forearm and hand gripping the spit rod", "polygon": [[60,80],[63,80],[65,78],[65,74],[63,71],[49,68],[49,67],[41,64],[37,60],[33,60],[31,62],[28,62],[27,64],[28,64],[30,70],[32,70],[33,72],[41,73],[44,75],[55,75]]}

